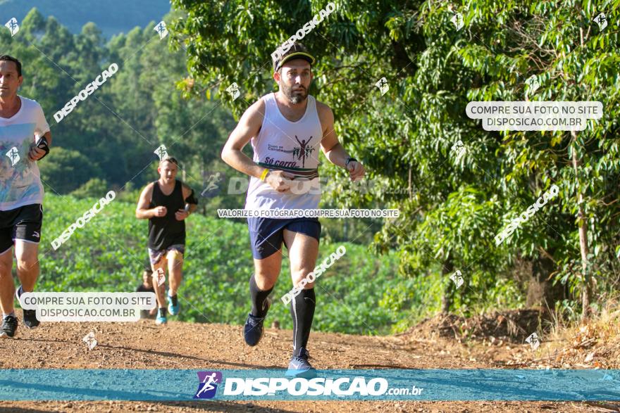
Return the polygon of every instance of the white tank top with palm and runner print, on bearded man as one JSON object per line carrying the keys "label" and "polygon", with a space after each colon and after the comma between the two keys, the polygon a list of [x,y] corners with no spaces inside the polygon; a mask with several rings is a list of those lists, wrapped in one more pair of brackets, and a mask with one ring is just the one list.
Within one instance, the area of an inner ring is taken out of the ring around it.
{"label": "white tank top with palm and runner print, on bearded man", "polygon": [[316,209],[321,200],[318,182],[318,153],[323,129],[316,101],[308,95],[306,113],[297,122],[287,120],[275,102],[275,93],[263,96],[265,115],[257,136],[252,138],[254,162],[268,170],[294,174],[292,190],[280,193],[261,179],[251,177],[245,209]]}

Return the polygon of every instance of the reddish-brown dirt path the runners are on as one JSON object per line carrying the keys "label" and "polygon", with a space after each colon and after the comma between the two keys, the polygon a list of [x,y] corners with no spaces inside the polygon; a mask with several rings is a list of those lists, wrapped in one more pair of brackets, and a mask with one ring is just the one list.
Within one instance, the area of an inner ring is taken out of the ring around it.
{"label": "reddish-brown dirt path the runners are on", "polygon": [[[84,337],[99,344],[89,351]],[[291,331],[267,329],[261,345],[242,342],[240,326],[152,320],[137,323],[46,323],[16,340],[0,341],[0,368],[256,369],[284,368]],[[443,339],[312,333],[311,361],[318,369],[492,368],[487,348]],[[491,358],[492,357],[492,358]],[[488,359],[488,360],[486,360]],[[577,402],[0,402],[2,412],[593,412]]]}

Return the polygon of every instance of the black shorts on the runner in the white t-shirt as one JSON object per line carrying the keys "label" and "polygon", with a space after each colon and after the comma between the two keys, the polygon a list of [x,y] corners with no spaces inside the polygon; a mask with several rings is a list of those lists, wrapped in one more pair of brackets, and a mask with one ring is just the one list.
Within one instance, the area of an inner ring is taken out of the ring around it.
{"label": "black shorts on the runner in the white t-shirt", "polygon": [[42,223],[43,205],[40,203],[0,211],[0,254],[10,250],[16,239],[39,243]]}

